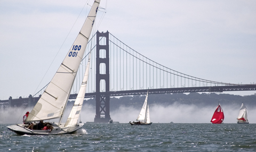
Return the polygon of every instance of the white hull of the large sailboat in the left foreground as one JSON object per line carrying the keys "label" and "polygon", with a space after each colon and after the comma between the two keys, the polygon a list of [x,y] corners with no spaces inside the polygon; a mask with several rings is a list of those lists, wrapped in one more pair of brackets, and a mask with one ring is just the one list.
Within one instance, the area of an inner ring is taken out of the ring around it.
{"label": "white hull of the large sailboat in the left foreground", "polygon": [[7,128],[19,135],[29,134],[29,135],[58,135],[58,134],[71,134],[82,128],[84,124],[79,123],[77,125],[71,126],[69,128],[61,128],[57,124],[52,124],[53,129],[51,132],[47,132],[46,130],[30,130],[25,127],[24,124],[15,124],[7,126]]}

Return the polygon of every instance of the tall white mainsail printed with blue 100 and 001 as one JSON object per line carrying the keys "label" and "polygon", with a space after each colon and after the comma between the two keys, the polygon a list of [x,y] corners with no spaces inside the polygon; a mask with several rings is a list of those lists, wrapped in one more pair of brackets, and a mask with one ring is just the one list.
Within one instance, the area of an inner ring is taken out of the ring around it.
{"label": "tall white mainsail printed with blue 100 and 001", "polygon": [[49,120],[61,117],[77,74],[79,64],[91,35],[100,0],[95,0],[81,31],[51,82],[43,92],[27,121]]}

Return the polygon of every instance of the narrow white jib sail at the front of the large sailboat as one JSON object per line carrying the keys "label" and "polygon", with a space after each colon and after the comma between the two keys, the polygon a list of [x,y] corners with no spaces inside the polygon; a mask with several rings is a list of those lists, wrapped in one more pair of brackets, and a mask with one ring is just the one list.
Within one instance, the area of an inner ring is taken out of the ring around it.
{"label": "narrow white jib sail at the front of the large sailboat", "polygon": [[79,119],[79,115],[80,115],[80,112],[81,112],[81,109],[83,106],[83,102],[84,102],[84,95],[85,95],[85,91],[86,91],[87,81],[89,78],[90,61],[91,61],[91,53],[89,54],[88,63],[87,63],[86,70],[84,73],[84,79],[82,81],[81,88],[79,89],[75,103],[71,109],[71,112],[68,116],[68,119],[67,119],[64,127],[76,125],[77,121]]}

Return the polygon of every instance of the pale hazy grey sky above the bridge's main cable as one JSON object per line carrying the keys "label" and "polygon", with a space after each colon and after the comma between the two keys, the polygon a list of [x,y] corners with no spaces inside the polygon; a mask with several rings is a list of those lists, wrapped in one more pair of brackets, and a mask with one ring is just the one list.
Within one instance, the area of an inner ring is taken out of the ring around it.
{"label": "pale hazy grey sky above the bridge's main cable", "polygon": [[[0,1],[0,99],[34,95],[52,79],[92,2]],[[194,77],[256,83],[256,1],[109,0],[100,6],[106,13],[98,13],[93,33],[108,30],[151,60]]]}

